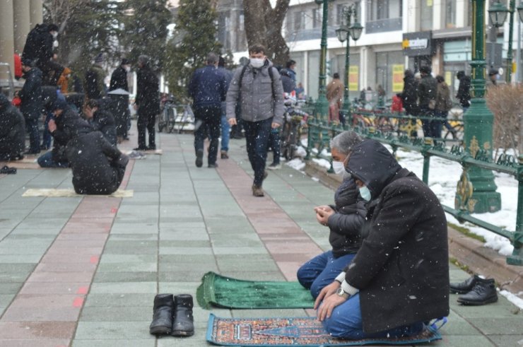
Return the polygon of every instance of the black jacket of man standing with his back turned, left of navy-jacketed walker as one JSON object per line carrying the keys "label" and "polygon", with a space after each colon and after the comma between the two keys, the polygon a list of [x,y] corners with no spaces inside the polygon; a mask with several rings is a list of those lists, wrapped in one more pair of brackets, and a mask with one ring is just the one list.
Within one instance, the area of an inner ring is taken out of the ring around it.
{"label": "black jacket of man standing with his back turned, left of navy-jacketed walker", "polygon": [[160,112],[160,90],[158,77],[148,66],[136,73],[136,105],[139,114],[158,114]]}

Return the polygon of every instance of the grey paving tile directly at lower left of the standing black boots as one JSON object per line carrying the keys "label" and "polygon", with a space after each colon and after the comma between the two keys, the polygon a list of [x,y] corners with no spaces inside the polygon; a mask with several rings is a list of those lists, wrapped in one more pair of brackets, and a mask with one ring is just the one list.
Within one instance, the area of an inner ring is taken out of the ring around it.
{"label": "grey paving tile directly at lower left of the standing black boots", "polygon": [[143,322],[78,322],[74,340],[154,340],[149,334],[151,319]]}

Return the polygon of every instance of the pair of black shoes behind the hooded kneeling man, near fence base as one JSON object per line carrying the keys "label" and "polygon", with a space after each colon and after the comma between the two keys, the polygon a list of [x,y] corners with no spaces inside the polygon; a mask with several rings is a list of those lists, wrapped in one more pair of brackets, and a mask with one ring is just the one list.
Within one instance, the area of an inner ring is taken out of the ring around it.
{"label": "pair of black shoes behind the hooded kneeling man, near fence base", "polygon": [[494,279],[477,275],[460,283],[450,283],[450,293],[464,294],[457,299],[462,305],[486,305],[498,301]]}

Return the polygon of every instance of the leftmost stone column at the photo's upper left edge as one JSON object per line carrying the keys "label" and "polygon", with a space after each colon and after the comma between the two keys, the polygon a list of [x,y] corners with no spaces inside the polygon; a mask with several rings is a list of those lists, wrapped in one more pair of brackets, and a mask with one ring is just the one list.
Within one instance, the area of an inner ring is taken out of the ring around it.
{"label": "leftmost stone column at the photo's upper left edge", "polygon": [[[11,66],[11,76],[14,76],[14,33],[13,33],[13,0],[0,1],[0,63]],[[8,81],[7,69],[0,66],[0,85]]]}

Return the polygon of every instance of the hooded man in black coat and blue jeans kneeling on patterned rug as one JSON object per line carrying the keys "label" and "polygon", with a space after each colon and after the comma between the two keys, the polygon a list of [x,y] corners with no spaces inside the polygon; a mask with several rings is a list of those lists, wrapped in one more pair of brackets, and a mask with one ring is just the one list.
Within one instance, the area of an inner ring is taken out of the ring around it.
{"label": "hooded man in black coat and blue jeans kneeling on patterned rug", "polygon": [[365,140],[346,165],[366,201],[363,242],[319,293],[315,309],[335,337],[409,336],[449,314],[447,220],[435,194],[387,148]]}

